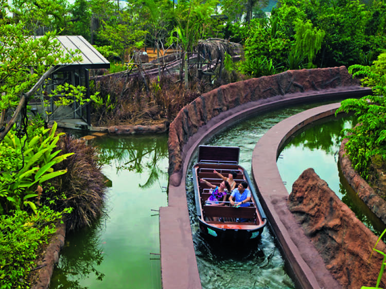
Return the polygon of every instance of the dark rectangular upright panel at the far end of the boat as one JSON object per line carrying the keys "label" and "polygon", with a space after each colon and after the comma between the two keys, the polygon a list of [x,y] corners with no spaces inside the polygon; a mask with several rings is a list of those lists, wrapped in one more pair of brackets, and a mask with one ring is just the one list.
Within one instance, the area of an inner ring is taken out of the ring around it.
{"label": "dark rectangular upright panel at the far end of the boat", "polygon": [[199,146],[198,162],[238,165],[240,148]]}

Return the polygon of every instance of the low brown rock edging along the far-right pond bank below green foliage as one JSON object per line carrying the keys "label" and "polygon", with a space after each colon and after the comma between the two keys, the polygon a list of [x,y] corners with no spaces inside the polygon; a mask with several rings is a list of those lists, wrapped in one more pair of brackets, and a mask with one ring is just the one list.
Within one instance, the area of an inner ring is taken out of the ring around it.
{"label": "low brown rock edging along the far-right pond bank below green foliage", "polygon": [[353,169],[351,160],[345,155],[344,145],[346,142],[347,139],[343,139],[339,149],[339,163],[342,173],[363,203],[386,224],[386,201],[375,193],[373,188]]}

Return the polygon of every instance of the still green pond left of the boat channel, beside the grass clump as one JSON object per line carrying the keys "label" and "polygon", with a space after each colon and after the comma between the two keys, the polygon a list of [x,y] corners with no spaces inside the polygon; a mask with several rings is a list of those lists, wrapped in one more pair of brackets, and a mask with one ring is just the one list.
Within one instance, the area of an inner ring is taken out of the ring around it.
{"label": "still green pond left of the boat channel, beside the grass clump", "polygon": [[157,210],[167,206],[167,135],[102,137],[95,145],[112,181],[107,214],[66,236],[50,288],[161,288]]}

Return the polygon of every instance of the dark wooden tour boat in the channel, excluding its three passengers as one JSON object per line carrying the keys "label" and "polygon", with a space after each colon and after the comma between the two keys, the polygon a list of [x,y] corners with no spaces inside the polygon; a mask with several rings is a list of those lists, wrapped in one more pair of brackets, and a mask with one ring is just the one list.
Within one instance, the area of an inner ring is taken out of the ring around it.
{"label": "dark wooden tour boat in the channel, excluding its three passengers", "polygon": [[[198,163],[192,168],[193,183],[200,232],[208,240],[215,240],[220,243],[237,243],[239,245],[249,243],[260,238],[267,224],[267,218],[248,173],[238,165],[239,152],[238,147],[199,147]],[[242,181],[248,183],[248,189],[251,191],[249,207],[230,206],[229,196],[231,192],[227,193],[226,202],[223,206],[206,204],[205,201],[212,192],[205,182],[200,182],[200,179],[202,178],[213,185],[220,186],[222,179],[214,173],[214,170],[225,177],[231,171],[236,171],[237,177],[234,178],[236,188]],[[244,222],[240,222],[240,220]]]}

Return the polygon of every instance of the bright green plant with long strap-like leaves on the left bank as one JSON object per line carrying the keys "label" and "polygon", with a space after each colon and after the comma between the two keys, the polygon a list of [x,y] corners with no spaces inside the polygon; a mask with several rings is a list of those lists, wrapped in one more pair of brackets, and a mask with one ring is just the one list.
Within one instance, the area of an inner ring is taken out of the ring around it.
{"label": "bright green plant with long strap-like leaves on the left bank", "polygon": [[14,131],[5,136],[0,146],[0,214],[25,207],[36,213],[34,200],[40,197],[44,182],[66,173],[66,169],[54,171],[52,168],[73,154],[58,155],[56,144],[63,133],[55,134],[56,129],[54,123],[51,129],[31,139],[27,136],[19,139]]}

